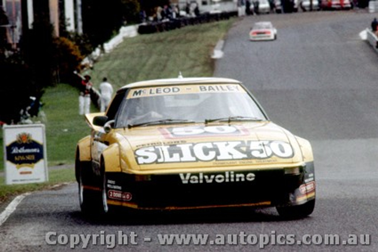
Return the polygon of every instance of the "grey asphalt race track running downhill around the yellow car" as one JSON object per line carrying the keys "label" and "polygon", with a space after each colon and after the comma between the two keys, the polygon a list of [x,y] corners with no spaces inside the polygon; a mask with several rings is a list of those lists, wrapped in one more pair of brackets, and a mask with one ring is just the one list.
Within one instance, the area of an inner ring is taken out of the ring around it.
{"label": "grey asphalt race track running downhill around the yellow car", "polygon": [[[69,184],[26,196],[0,226],[0,251],[378,251],[378,54],[359,37],[373,17],[367,10],[245,17],[215,64],[215,76],[243,81],[272,121],[312,143],[317,199],[308,218],[282,219],[274,208],[91,218]],[[278,39],[250,42],[257,20],[272,21]],[[161,245],[164,234],[209,240]]]}

